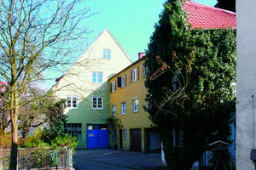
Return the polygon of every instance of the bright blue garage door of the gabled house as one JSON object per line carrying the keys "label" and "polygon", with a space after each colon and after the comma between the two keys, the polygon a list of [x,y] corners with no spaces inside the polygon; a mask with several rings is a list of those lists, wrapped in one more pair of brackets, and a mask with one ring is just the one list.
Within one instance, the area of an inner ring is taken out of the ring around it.
{"label": "bright blue garage door of the gabled house", "polygon": [[108,148],[108,125],[90,124],[87,126],[87,149]]}

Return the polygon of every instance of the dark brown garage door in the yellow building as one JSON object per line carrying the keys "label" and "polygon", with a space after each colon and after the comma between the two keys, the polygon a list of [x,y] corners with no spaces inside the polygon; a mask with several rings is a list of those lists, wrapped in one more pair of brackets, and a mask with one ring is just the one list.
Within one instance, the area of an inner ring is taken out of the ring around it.
{"label": "dark brown garage door in the yellow building", "polygon": [[131,150],[142,151],[142,131],[140,128],[131,129]]}

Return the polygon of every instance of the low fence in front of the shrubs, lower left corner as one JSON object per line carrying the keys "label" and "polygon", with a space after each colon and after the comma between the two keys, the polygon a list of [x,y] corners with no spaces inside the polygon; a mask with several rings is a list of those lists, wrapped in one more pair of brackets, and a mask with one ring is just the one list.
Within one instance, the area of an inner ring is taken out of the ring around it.
{"label": "low fence in front of the shrubs, lower left corner", "polygon": [[[0,150],[0,170],[9,168],[10,150]],[[64,148],[18,149],[18,169],[72,169],[72,154]]]}

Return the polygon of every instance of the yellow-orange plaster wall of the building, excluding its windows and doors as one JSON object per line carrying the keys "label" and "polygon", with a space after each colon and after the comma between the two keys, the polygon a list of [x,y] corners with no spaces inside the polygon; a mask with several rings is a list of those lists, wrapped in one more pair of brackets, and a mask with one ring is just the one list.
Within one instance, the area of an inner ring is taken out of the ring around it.
{"label": "yellow-orange plaster wall of the building, excluding its windows and doors", "polygon": [[[139,79],[137,82],[130,82],[131,71],[139,67]],[[130,129],[140,128],[142,130],[142,151],[146,152],[147,134],[145,128],[151,127],[151,121],[148,119],[148,112],[144,111],[143,105],[147,106],[145,101],[147,89],[144,86],[145,77],[143,77],[143,59],[138,60],[134,64],[128,66],[125,70],[119,72],[114,77],[110,78],[109,83],[118,82],[117,77],[122,77],[126,74],[127,84],[124,88],[116,88],[116,91],[110,93],[110,116],[112,116],[112,105],[116,105],[116,116],[121,120],[122,129],[127,130],[127,139],[124,139],[123,131],[123,149],[131,149],[131,134]],[[138,112],[133,112],[132,99],[139,99]],[[126,114],[121,114],[121,103],[126,102]],[[119,135],[119,130],[117,131]],[[119,139],[119,138],[118,138]],[[113,142],[110,139],[110,147],[113,148]]]}

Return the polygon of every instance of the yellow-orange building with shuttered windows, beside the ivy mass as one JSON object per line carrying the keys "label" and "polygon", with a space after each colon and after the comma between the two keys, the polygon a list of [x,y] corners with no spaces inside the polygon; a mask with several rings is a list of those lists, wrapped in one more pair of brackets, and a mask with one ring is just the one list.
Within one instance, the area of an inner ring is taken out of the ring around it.
{"label": "yellow-orange building with shuttered windows, beside the ivy mass", "polygon": [[109,145],[112,149],[143,153],[160,150],[160,141],[154,133],[148,112],[143,108],[147,106],[143,55],[139,53],[136,62],[108,80],[111,121]]}

